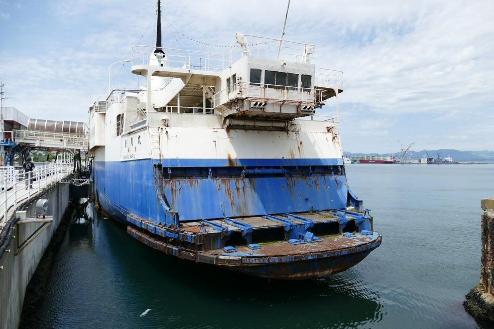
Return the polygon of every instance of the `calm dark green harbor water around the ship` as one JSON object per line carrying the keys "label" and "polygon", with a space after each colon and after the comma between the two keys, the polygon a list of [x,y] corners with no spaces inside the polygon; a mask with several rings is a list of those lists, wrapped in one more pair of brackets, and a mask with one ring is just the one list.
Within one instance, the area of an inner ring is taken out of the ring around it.
{"label": "calm dark green harbor water around the ship", "polygon": [[92,223],[67,230],[23,327],[478,327],[462,302],[478,283],[480,199],[494,195],[494,164],[346,170],[383,243],[345,272],[268,282],[199,266],[145,246],[89,206]]}

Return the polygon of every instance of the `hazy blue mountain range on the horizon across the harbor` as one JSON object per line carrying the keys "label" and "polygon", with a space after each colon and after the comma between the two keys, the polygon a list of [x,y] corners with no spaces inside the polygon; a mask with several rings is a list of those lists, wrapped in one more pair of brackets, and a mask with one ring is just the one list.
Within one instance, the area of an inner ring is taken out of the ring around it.
{"label": "hazy blue mountain range on the horizon across the harbor", "polygon": [[[441,149],[428,149],[427,151],[424,149],[422,151],[410,151],[412,153],[413,158],[423,158],[423,157],[437,157],[437,153],[441,158],[445,158],[446,156],[451,156],[455,161],[494,161],[494,152],[493,151],[459,151],[457,149],[449,149],[449,148],[441,148]],[[409,152],[407,152],[409,153]],[[427,156],[427,153],[429,156]],[[390,153],[351,153],[351,152],[343,152],[344,156],[365,156],[365,155],[382,155],[389,156]],[[400,157],[400,154],[395,153],[397,158]],[[405,158],[408,158],[408,154],[405,155]]]}

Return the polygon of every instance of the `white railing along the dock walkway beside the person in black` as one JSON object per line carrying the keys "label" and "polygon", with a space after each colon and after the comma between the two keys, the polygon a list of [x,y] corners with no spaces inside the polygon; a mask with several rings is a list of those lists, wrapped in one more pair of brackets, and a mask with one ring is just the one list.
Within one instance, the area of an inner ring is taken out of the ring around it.
{"label": "white railing along the dock walkway beside the person in black", "polygon": [[19,173],[17,166],[2,167],[5,176],[0,179],[0,222],[11,207],[30,198],[47,186],[60,182],[72,173],[71,163],[49,163],[36,167],[32,172]]}

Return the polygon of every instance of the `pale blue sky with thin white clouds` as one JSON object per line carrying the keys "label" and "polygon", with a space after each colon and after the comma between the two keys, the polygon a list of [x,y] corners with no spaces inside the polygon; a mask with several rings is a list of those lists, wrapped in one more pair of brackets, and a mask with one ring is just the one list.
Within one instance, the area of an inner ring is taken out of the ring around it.
{"label": "pale blue sky with thin white clouds", "polygon": [[[234,33],[279,37],[286,1],[162,0],[184,35],[218,45]],[[0,0],[0,80],[33,118],[87,121],[106,98],[108,66],[153,44],[155,0]],[[350,152],[494,150],[493,1],[292,0],[285,38],[316,45],[314,63],[343,71],[340,131]],[[163,20],[163,46],[194,43]],[[130,64],[113,88],[137,88]],[[330,106],[319,110],[331,114]]]}

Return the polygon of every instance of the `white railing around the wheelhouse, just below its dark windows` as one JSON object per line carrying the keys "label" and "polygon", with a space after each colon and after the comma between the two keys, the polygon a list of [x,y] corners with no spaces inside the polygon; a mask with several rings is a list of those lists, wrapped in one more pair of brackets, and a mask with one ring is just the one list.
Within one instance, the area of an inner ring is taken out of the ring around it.
{"label": "white railing around the wheelhouse, just below its dark windows", "polygon": [[233,87],[235,89],[226,88],[214,94],[213,106],[222,105],[234,98],[315,104],[322,101],[325,92],[315,88],[268,84],[251,85],[246,82],[237,82]]}

